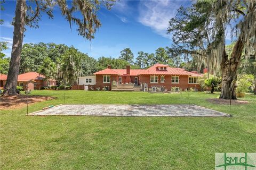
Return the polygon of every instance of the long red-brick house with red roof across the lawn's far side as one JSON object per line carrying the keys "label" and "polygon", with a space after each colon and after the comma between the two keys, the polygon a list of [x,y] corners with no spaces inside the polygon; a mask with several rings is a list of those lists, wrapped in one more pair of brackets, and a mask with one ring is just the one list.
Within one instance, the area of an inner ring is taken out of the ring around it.
{"label": "long red-brick house with red roof across the lawn's far side", "polygon": [[196,72],[188,72],[164,64],[155,64],[148,69],[131,69],[130,66],[126,66],[126,69],[111,69],[108,66],[107,69],[96,72],[94,75],[96,89],[113,91],[129,89],[129,86],[133,90],[141,90],[145,83],[148,89],[164,88],[165,91],[172,91],[173,89],[177,91],[195,88],[200,90],[201,87],[197,79],[202,77]]}

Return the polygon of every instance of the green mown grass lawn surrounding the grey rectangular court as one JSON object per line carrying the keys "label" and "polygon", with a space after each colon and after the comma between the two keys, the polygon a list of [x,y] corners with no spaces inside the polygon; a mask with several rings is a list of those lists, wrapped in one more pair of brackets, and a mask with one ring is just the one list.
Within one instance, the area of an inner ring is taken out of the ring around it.
{"label": "green mown grass lawn surrounding the grey rectangular court", "polygon": [[[29,112],[65,103],[64,91]],[[190,103],[229,113],[228,105],[190,92]],[[256,152],[256,96],[233,117],[25,116],[1,111],[0,169],[214,169],[215,152]],[[188,94],[66,91],[67,104],[187,104]]]}

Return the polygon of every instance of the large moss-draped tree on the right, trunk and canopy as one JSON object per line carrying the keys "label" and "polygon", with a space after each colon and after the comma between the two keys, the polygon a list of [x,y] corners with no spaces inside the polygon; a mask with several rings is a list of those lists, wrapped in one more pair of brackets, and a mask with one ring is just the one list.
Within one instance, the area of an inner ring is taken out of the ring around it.
{"label": "large moss-draped tree on the right, trunk and canopy", "polygon": [[[174,42],[172,52],[201,58],[198,61],[207,65],[211,72],[220,70],[220,98],[236,99],[237,69],[242,50],[250,56],[256,49],[256,2],[197,1],[191,7],[181,7],[169,23],[167,32],[173,33]],[[225,49],[228,28],[236,37],[230,56]]]}

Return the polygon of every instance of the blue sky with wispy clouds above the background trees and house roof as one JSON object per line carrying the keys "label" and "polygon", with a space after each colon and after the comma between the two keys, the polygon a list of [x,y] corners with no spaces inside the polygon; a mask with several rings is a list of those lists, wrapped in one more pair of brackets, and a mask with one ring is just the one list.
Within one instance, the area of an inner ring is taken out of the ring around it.
{"label": "blue sky with wispy clouds above the background trees and house roof", "polygon": [[[10,24],[14,12],[15,1],[6,1],[1,19],[1,41],[9,41],[10,48],[13,37],[13,26]],[[118,57],[120,51],[131,48],[134,56],[139,51],[154,53],[158,47],[170,46],[171,35],[166,35],[168,21],[175,16],[177,8],[182,4],[190,5],[190,1],[119,1],[112,10],[101,8],[98,12],[102,26],[90,42],[78,36],[76,27],[70,30],[69,23],[61,16],[57,7],[54,8],[54,19],[43,14],[39,28],[26,27],[23,43],[56,43],[73,45],[89,56],[99,58]],[[11,50],[4,52],[11,55]]]}

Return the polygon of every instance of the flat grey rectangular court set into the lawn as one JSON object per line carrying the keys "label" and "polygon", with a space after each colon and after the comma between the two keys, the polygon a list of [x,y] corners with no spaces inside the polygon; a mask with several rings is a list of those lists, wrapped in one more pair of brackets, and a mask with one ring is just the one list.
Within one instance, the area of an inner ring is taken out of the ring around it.
{"label": "flat grey rectangular court set into the lawn", "polygon": [[197,105],[58,105],[29,115],[69,116],[229,116]]}

